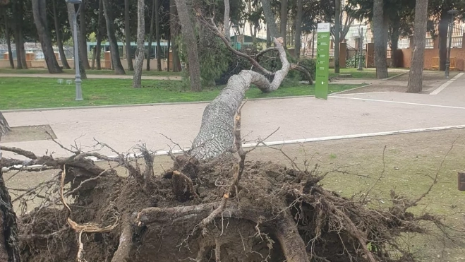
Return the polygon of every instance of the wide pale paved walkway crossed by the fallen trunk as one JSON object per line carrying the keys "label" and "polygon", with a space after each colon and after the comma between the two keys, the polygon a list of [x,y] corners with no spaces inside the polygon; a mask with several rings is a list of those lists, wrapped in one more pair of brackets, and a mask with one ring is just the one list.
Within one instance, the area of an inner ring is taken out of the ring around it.
{"label": "wide pale paved walkway crossed by the fallen trunk", "polygon": [[[299,97],[249,101],[243,108],[243,135],[248,141],[289,141],[328,136],[352,136],[375,132],[465,126],[465,75],[437,95],[396,92],[355,93],[330,96],[328,100]],[[200,128],[205,103],[62,109],[4,113],[11,126],[48,124],[64,145],[75,141],[84,150],[108,143],[128,152],[138,143],[152,150],[167,150],[169,136],[188,147]],[[464,129],[465,133],[465,129]],[[68,153],[52,141],[4,143],[35,153]],[[114,155],[109,150],[101,153]]]}

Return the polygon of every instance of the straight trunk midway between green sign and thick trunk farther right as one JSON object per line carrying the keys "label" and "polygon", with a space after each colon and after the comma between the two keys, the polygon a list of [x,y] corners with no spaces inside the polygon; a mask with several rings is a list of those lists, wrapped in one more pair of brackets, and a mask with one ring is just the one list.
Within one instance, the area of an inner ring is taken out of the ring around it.
{"label": "straight trunk midway between green sign and thick trunk farther right", "polygon": [[384,1],[373,2],[373,37],[375,38],[376,77],[387,78],[387,39],[385,39]]}

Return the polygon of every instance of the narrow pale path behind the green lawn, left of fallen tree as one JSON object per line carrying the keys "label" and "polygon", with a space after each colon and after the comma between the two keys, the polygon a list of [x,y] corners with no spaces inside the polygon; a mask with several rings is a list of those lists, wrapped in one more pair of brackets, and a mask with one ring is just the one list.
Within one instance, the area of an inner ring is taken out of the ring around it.
{"label": "narrow pale path behind the green lawn, left of fallen tree", "polygon": [[[13,74],[13,73],[0,73],[1,77],[27,77],[27,78],[64,78],[64,79],[74,79],[74,75],[69,73],[23,73],[23,74]],[[105,78],[105,79],[133,79],[131,75],[92,75],[87,74],[87,78],[95,79],[95,78]],[[181,80],[181,76],[142,76],[142,79],[145,80]]]}

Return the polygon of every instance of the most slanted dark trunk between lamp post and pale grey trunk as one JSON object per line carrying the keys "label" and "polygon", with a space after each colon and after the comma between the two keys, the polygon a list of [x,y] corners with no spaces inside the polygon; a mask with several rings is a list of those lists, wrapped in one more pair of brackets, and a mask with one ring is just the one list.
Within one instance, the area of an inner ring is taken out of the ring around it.
{"label": "most slanted dark trunk between lamp post and pale grey trunk", "polygon": [[123,69],[121,64],[121,59],[119,57],[118,42],[116,41],[116,35],[114,33],[113,18],[111,16],[111,8],[108,0],[103,1],[103,11],[105,16],[105,22],[107,23],[107,37],[108,42],[110,43],[110,52],[111,52],[111,66],[114,67],[114,73],[116,75],[126,75],[126,72]]}

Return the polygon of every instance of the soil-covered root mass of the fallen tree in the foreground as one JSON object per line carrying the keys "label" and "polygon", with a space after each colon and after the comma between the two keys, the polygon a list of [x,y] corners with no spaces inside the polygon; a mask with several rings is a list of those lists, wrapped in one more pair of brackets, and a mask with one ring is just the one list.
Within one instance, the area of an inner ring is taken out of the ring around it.
{"label": "soil-covered root mass of the fallen tree in the foreground", "polygon": [[[370,210],[364,200],[322,189],[317,169],[272,162],[245,162],[230,193],[237,163],[231,154],[200,162],[179,156],[173,169],[145,183],[116,172],[99,175],[92,186],[77,191],[79,183],[70,183],[65,190],[75,191],[68,201],[71,214],[42,205],[18,219],[22,259],[291,261],[300,248],[292,246],[295,234],[311,261],[411,261],[408,253],[397,260],[389,256],[394,239],[402,232],[425,232],[421,220],[437,222],[408,213],[411,202],[395,193],[391,208]],[[71,171],[66,181],[78,177],[76,169]],[[225,198],[222,212],[211,215]],[[110,232],[83,232],[80,252],[68,217],[79,225],[117,226]]]}

